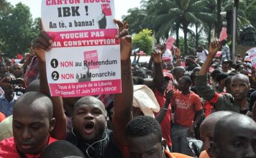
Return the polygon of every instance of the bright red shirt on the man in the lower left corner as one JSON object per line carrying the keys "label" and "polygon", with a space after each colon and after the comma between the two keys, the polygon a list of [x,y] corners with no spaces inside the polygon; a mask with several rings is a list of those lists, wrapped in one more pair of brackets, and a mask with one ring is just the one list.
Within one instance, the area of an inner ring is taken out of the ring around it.
{"label": "bright red shirt on the man in the lower left corner", "polygon": [[[48,141],[48,145],[53,143],[54,141],[58,141],[50,137]],[[40,154],[25,154],[27,158],[39,158]],[[16,148],[16,144],[14,141],[14,137],[4,139],[0,142],[0,157],[1,158],[20,158],[19,153]]]}

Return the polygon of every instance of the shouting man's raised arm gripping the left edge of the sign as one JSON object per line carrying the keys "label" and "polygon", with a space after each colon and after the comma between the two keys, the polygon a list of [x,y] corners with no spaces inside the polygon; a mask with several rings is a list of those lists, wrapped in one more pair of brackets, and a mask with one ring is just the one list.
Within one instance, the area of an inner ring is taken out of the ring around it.
{"label": "shouting man's raised arm gripping the left edge of the sign", "polygon": [[46,76],[46,64],[45,64],[45,50],[50,50],[52,40],[46,34],[46,32],[41,32],[40,36],[35,39],[33,48],[35,54],[38,57],[40,65],[40,91],[45,95],[49,96],[53,103],[53,117],[55,117],[55,127],[50,133],[55,139],[65,139],[66,129],[67,129],[67,118],[63,109],[63,101],[60,96],[51,97],[50,90],[47,83]]}

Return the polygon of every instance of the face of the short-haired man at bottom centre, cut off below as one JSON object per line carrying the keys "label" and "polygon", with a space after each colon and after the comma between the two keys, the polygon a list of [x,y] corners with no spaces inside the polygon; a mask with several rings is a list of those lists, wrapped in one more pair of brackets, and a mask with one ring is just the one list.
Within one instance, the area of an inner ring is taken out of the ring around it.
{"label": "face of the short-haired man at bottom centre, cut off below", "polygon": [[131,158],[163,157],[163,147],[154,134],[147,136],[128,137],[127,144]]}

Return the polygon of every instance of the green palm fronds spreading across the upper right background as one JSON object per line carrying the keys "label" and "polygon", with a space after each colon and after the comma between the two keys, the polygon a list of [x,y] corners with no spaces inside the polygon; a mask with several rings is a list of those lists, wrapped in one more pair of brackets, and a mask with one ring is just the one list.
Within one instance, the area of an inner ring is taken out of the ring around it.
{"label": "green palm fronds spreading across the upper right background", "polygon": [[[184,52],[189,54],[192,51],[187,40],[193,34],[189,27],[197,25],[199,30],[203,30],[203,32],[195,32],[196,43],[200,44],[201,40],[206,40],[206,36],[210,42],[213,29],[221,25],[221,22],[216,22],[217,4],[219,3],[221,3],[219,10],[228,11],[232,9],[234,0],[142,0],[141,7],[128,11],[124,19],[130,24],[129,29],[132,33],[140,32],[145,28],[152,29],[157,42],[166,40],[170,35],[175,34],[176,45],[183,47]],[[247,17],[253,25],[256,24],[255,7],[256,0],[239,1],[237,18],[239,27],[248,23]],[[181,42],[179,42],[179,29],[184,32],[184,41]]]}

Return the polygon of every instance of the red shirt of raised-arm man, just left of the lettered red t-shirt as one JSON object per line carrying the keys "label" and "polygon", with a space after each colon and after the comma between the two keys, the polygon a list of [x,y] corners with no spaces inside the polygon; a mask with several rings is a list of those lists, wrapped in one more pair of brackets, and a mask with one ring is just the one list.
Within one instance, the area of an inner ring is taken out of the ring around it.
{"label": "red shirt of raised-arm man, just left of the lettered red t-shirt", "polygon": [[[160,108],[163,108],[165,106],[165,93],[162,95],[157,89],[153,90],[155,93],[155,98],[157,98],[157,102],[159,103]],[[172,120],[172,109],[171,106],[168,106],[168,111],[166,111],[166,115],[161,122],[161,129],[163,138],[166,140],[166,143],[169,147],[172,147],[172,141],[170,140],[170,121]],[[158,113],[155,113],[155,116],[157,116]]]}

